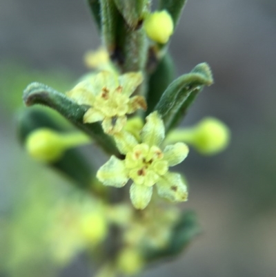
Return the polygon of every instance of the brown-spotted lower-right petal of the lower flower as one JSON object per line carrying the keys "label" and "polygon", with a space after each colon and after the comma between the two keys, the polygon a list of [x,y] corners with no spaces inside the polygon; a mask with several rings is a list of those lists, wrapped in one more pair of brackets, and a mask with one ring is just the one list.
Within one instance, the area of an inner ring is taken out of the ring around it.
{"label": "brown-spotted lower-right petal of the lower flower", "polygon": [[188,190],[179,173],[167,172],[157,182],[157,192],[162,198],[172,202],[188,200]]}

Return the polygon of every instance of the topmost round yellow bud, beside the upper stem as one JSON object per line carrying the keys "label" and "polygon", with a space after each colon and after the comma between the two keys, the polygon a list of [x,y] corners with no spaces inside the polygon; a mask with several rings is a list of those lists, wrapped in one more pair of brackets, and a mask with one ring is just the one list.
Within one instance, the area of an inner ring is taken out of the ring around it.
{"label": "topmost round yellow bud, beside the upper stem", "polygon": [[166,44],[173,32],[172,17],[166,10],[153,12],[146,17],[144,28],[150,39]]}

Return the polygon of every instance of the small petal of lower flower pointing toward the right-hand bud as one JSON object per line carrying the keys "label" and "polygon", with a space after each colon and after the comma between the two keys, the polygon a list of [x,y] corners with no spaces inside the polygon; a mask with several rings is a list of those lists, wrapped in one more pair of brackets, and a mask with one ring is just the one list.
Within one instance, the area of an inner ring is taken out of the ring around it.
{"label": "small petal of lower flower pointing toward the right-hand bud", "polygon": [[168,161],[169,166],[180,164],[188,155],[189,149],[183,142],[177,142],[174,145],[168,145],[163,151],[164,160]]}

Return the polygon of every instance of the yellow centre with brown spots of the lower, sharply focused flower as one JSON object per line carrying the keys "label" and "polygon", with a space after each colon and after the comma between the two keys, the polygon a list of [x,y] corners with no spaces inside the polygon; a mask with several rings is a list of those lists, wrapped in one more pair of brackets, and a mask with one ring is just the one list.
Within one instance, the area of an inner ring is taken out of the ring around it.
{"label": "yellow centre with brown spots of the lower, sharply focused flower", "polygon": [[126,168],[130,169],[130,178],[136,184],[152,186],[161,175],[168,171],[168,162],[157,146],[137,144],[126,155]]}

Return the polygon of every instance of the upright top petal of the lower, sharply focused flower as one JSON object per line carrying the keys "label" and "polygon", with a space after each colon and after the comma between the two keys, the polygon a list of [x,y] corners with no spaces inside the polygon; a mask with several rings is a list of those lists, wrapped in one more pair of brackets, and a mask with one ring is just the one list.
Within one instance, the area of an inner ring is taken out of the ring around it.
{"label": "upright top petal of the lower, sharply focused flower", "polygon": [[160,115],[157,111],[150,113],[150,115],[146,117],[146,124],[141,130],[142,142],[148,144],[149,146],[159,146],[164,140],[164,136],[165,128]]}

